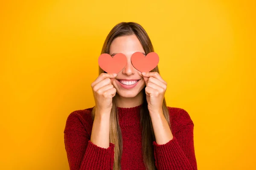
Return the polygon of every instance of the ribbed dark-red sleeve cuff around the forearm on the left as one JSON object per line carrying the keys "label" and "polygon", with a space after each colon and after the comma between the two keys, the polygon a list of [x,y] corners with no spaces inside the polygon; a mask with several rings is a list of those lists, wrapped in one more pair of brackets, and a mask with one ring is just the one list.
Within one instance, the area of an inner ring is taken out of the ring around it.
{"label": "ribbed dark-red sleeve cuff around the forearm on the left", "polygon": [[109,143],[108,148],[99,147],[88,141],[84,161],[81,169],[90,168],[90,170],[110,170],[113,169],[114,163],[114,147],[113,143]]}

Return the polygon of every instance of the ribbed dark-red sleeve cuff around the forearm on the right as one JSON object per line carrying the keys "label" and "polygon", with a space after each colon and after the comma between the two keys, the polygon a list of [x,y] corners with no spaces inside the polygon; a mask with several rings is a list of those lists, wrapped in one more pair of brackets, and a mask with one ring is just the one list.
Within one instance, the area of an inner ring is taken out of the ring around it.
{"label": "ribbed dark-red sleeve cuff around the forearm on the right", "polygon": [[155,164],[158,170],[192,170],[175,136],[166,144],[154,145]]}

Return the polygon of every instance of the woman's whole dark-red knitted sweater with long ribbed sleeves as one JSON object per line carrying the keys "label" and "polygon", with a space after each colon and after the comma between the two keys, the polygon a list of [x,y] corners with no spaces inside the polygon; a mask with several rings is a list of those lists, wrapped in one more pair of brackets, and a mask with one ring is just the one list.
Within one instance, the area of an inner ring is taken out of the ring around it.
{"label": "woman's whole dark-red knitted sweater with long ribbed sleeves", "polygon": [[[145,170],[140,131],[140,108],[118,108],[122,132],[122,170]],[[168,107],[173,139],[166,144],[152,143],[157,170],[197,170],[194,150],[194,123],[181,108]],[[92,108],[73,111],[64,129],[64,144],[70,170],[112,170],[113,143],[107,149],[90,142]]]}

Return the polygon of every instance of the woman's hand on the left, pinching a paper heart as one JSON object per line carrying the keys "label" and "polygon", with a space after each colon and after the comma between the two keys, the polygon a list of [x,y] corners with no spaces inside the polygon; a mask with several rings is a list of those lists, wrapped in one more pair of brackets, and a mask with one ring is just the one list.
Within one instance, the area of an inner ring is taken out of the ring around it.
{"label": "woman's hand on the left, pinching a paper heart", "polygon": [[112,98],[116,95],[116,88],[112,82],[116,74],[102,73],[97,79],[92,82],[93,97],[95,101],[96,111],[105,113],[111,111]]}

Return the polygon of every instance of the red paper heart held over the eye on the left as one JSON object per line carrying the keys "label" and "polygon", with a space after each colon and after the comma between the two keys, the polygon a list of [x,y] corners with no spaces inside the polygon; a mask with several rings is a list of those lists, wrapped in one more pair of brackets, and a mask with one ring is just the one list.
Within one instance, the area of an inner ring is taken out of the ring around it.
{"label": "red paper heart held over the eye on the left", "polygon": [[109,54],[101,54],[98,59],[98,63],[102,70],[106,71],[107,73],[118,73],[127,63],[127,58],[125,54],[118,53],[111,57]]}

